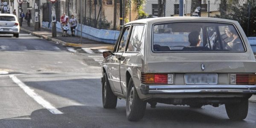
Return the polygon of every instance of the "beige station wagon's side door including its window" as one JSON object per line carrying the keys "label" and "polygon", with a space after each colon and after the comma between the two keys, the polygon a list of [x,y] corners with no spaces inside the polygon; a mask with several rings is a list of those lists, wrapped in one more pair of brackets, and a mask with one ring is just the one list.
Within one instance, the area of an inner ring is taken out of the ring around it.
{"label": "beige station wagon's side door including its window", "polygon": [[121,84],[120,84],[120,59],[122,57],[123,52],[125,51],[125,44],[128,39],[130,31],[130,26],[125,26],[122,29],[122,35],[119,38],[118,44],[113,51],[113,55],[111,56],[109,72],[110,72],[110,80],[112,83],[112,89],[116,93],[123,93]]}

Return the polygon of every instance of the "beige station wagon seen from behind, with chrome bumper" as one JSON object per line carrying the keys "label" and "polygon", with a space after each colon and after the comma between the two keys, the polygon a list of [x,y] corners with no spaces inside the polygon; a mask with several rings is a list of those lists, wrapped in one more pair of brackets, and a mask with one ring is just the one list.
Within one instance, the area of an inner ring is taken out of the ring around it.
{"label": "beige station wagon seen from behind, with chrome bumper", "polygon": [[225,105],[243,120],[256,94],[256,61],[237,21],[157,17],[126,23],[113,51],[103,52],[102,102],[126,99],[128,120],[142,119],[146,103]]}

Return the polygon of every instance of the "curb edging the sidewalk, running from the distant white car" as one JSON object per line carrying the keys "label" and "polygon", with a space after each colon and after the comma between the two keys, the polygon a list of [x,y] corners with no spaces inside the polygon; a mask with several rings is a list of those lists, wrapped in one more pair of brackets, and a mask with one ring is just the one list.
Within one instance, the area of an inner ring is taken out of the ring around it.
{"label": "curb edging the sidewalk, running from the distant white car", "polygon": [[55,39],[55,38],[51,38],[51,37],[48,37],[48,36],[45,36],[45,35],[37,34],[36,32],[29,31],[29,30],[24,29],[22,27],[20,27],[20,30],[31,33],[32,35],[35,35],[37,37],[44,38],[48,41],[53,41],[53,42],[55,42],[55,44],[61,44],[61,45],[64,45],[64,46],[69,46],[69,47],[81,47],[81,44],[67,43],[67,42],[64,42],[64,41],[61,41],[61,40],[58,40],[58,39]]}

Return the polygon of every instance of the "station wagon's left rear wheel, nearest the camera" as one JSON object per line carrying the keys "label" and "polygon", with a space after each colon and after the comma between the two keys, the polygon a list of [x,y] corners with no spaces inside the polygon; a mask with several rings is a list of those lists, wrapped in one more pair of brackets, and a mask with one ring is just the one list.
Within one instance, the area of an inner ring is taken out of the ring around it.
{"label": "station wagon's left rear wheel, nearest the camera", "polygon": [[130,121],[138,121],[145,114],[147,102],[143,102],[134,86],[134,82],[130,79],[128,84],[128,92],[126,97],[126,117]]}

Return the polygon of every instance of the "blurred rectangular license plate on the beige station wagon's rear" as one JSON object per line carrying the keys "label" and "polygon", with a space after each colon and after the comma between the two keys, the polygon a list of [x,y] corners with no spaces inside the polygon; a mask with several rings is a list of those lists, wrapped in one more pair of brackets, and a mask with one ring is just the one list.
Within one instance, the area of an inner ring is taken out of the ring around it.
{"label": "blurred rectangular license plate on the beige station wagon's rear", "polygon": [[185,74],[186,84],[218,84],[217,74]]}

